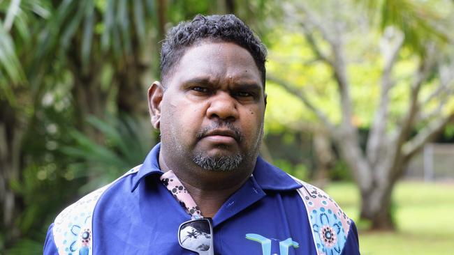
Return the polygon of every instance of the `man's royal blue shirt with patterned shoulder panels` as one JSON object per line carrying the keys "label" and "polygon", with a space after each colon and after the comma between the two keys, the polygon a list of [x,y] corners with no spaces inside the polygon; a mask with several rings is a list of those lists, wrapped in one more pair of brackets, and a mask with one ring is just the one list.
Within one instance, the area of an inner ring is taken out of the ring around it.
{"label": "man's royal blue shirt with patterned shoulder panels", "polygon": [[[178,244],[178,228],[191,216],[159,180],[159,149],[61,212],[47,231],[44,254],[195,254]],[[355,224],[335,201],[261,157],[212,221],[215,254],[359,254]],[[72,241],[85,235],[84,223],[92,248]]]}

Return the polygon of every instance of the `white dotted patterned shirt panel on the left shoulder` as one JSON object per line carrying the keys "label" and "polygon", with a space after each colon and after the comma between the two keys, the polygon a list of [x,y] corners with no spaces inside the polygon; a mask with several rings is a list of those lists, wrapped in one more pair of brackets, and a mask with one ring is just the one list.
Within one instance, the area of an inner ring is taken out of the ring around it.
{"label": "white dotted patterned shirt panel on the left shoulder", "polygon": [[[127,171],[122,177],[137,173],[141,165]],[[91,216],[96,203],[113,183],[87,194],[60,212],[54,221],[52,234],[60,255],[91,255]]]}

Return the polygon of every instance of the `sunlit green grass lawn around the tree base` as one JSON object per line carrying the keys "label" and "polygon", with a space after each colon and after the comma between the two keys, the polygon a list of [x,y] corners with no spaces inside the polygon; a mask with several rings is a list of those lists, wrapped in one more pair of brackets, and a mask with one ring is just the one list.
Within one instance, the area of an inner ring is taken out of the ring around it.
{"label": "sunlit green grass lawn around the tree base", "polygon": [[[358,222],[355,185],[332,183],[325,191]],[[359,229],[361,254],[454,254],[454,183],[401,182],[393,201],[397,231]]]}

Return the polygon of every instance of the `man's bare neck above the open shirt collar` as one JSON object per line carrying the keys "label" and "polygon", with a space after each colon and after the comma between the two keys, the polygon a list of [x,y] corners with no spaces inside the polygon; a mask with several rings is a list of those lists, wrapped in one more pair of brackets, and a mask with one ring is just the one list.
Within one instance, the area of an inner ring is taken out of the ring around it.
{"label": "man's bare neck above the open shirt collar", "polygon": [[195,164],[190,167],[176,167],[174,164],[167,164],[163,153],[159,153],[161,171],[172,170],[175,173],[175,176],[191,194],[204,217],[214,217],[226,200],[239,190],[251,176],[254,164],[244,170],[210,171],[201,169]]}

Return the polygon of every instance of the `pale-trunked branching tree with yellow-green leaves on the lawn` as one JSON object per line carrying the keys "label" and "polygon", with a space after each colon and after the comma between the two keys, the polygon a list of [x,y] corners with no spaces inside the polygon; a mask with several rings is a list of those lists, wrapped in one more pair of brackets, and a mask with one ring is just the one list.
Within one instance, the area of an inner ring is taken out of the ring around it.
{"label": "pale-trunked branching tree with yellow-green leaves on the lawn", "polygon": [[[448,17],[453,8],[447,1],[430,2],[444,6],[443,11],[416,1],[368,2],[382,10],[382,32],[376,21],[364,15],[367,10],[351,1],[284,4],[288,25],[284,27],[300,34],[302,44],[311,49],[299,70],[318,66],[328,70],[330,77],[318,86],[309,84],[307,77],[301,79],[308,84],[298,84],[288,72],[286,79],[274,73],[268,80],[298,97],[328,130],[358,184],[361,219],[371,222],[372,229],[393,229],[390,208],[395,183],[411,157],[454,121],[454,59],[448,47],[453,38],[443,32],[451,31],[453,22]],[[355,91],[362,84],[352,82],[357,75],[352,66],[370,61],[381,64],[379,75],[361,82],[375,82],[369,89],[379,88],[379,96],[376,102],[363,102],[366,107],[372,105],[375,114],[368,123],[367,146],[361,148],[356,121],[360,95]],[[338,103],[339,121],[314,103],[320,100],[310,93],[311,88],[323,91],[330,84],[334,84],[338,100],[326,97],[326,91],[324,99]]]}

